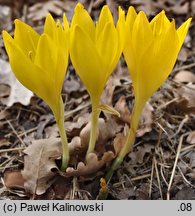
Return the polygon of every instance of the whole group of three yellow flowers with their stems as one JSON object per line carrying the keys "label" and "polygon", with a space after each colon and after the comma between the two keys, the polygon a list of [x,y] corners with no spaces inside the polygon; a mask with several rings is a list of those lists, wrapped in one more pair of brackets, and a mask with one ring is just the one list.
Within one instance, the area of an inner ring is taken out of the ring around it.
{"label": "whole group of three yellow flowers with their stems", "polygon": [[113,171],[134,142],[146,101],[174,67],[190,22],[191,18],[176,29],[175,21],[169,21],[164,11],[149,22],[143,11],[137,14],[130,7],[126,16],[119,8],[115,25],[108,6],[104,6],[98,21],[94,23],[78,3],[71,23],[64,15],[62,26],[60,21],[55,22],[49,14],[41,35],[20,20],[15,20],[14,38],[3,31],[5,48],[16,77],[46,101],[54,113],[63,143],[62,170],[66,169],[69,162],[61,98],[69,54],[92,103],[87,155],[94,151],[99,113],[102,109],[109,109],[100,104],[101,94],[121,54],[124,54],[133,81],[135,104],[130,132],[113,163]]}

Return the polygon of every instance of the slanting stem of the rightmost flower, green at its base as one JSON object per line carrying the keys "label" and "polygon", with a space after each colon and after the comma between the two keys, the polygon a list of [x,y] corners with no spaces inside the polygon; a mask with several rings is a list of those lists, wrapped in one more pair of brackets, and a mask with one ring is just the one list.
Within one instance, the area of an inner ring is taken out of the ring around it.
{"label": "slanting stem of the rightmost flower, green at its base", "polygon": [[118,169],[118,167],[121,165],[124,157],[126,156],[127,153],[129,153],[132,145],[134,144],[136,130],[137,130],[137,127],[139,124],[139,119],[140,119],[140,116],[142,113],[142,109],[143,109],[143,105],[140,105],[140,104],[138,105],[137,103],[135,103],[134,108],[133,108],[133,112],[131,115],[131,121],[130,121],[131,128],[129,130],[127,140],[126,140],[125,144],[123,145],[121,151],[119,152],[119,155],[114,160],[110,169],[108,170],[106,177],[105,177],[106,181],[108,181],[112,177],[114,171],[116,169]]}

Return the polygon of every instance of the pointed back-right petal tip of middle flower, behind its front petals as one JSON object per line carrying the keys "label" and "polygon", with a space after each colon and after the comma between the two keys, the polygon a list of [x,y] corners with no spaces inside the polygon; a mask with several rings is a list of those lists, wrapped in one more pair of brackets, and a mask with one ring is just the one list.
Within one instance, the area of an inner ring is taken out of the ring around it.
{"label": "pointed back-right petal tip of middle flower, behind its front petals", "polygon": [[104,30],[107,23],[112,23],[114,26],[114,21],[110,9],[107,5],[105,5],[102,8],[99,19],[96,23],[96,40],[98,39],[101,32]]}

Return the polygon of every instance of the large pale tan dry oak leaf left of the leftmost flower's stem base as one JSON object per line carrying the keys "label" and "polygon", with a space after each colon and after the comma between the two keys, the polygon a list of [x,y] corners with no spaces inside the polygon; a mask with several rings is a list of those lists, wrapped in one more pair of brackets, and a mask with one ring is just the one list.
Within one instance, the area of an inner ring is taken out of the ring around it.
{"label": "large pale tan dry oak leaf left of the leftmost flower's stem base", "polygon": [[28,193],[41,195],[51,186],[58,170],[55,160],[61,156],[59,138],[35,140],[24,150],[24,187]]}

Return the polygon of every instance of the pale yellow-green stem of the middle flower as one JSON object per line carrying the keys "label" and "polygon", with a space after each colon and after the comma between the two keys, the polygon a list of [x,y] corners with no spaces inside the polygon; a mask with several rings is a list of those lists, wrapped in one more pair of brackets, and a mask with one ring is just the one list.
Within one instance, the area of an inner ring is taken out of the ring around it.
{"label": "pale yellow-green stem of the middle flower", "polygon": [[100,111],[98,109],[98,103],[92,101],[92,112],[91,112],[91,131],[90,131],[90,139],[89,139],[89,146],[87,150],[86,159],[88,158],[89,154],[94,151],[95,143],[97,140],[97,130],[98,130],[98,118]]}

